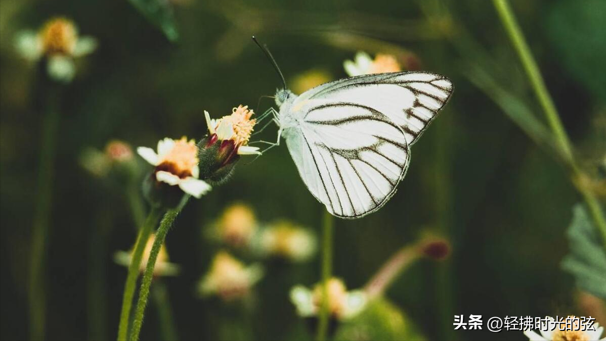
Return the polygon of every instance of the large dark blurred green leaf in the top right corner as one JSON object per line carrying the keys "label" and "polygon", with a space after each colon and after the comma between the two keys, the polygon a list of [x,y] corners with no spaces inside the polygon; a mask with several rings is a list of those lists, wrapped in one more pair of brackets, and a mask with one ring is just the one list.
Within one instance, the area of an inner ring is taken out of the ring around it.
{"label": "large dark blurred green leaf in the top right corner", "polygon": [[568,73],[606,101],[606,1],[558,1],[547,16],[547,36]]}

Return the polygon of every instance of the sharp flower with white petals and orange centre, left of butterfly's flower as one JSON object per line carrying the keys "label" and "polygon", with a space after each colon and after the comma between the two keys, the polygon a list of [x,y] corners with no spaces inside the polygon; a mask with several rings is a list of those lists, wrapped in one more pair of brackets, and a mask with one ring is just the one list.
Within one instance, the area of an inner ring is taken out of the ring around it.
{"label": "sharp flower with white petals and orange centre, left of butterfly's flower", "polygon": [[153,172],[156,182],[178,185],[182,191],[197,198],[210,191],[210,185],[198,179],[198,147],[193,139],[165,137],[158,142],[158,153],[148,147],[137,148],[137,153],[156,167]]}

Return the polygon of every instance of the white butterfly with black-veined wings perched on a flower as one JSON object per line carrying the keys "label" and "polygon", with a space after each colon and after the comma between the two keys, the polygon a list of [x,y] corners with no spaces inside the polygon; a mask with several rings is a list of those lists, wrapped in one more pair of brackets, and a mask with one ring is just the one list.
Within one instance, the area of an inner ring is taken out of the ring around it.
{"label": "white butterfly with black-veined wings perched on a flower", "polygon": [[426,72],[368,74],[328,82],[300,96],[276,93],[283,136],[307,188],[331,214],[358,218],[396,192],[410,146],[452,93]]}

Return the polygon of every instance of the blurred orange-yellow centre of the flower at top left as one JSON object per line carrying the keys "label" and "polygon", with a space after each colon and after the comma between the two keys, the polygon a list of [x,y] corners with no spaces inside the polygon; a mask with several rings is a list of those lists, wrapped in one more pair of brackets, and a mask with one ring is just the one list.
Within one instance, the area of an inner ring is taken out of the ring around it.
{"label": "blurred orange-yellow centre of the flower at top left", "polygon": [[48,21],[40,32],[42,48],[47,55],[71,55],[78,40],[72,21],[56,18]]}

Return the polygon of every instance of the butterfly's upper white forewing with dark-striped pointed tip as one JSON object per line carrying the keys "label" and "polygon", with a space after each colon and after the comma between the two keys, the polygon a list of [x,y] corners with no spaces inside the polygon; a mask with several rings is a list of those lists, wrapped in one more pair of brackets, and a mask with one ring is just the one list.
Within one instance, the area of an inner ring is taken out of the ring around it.
{"label": "butterfly's upper white forewing with dark-striped pointed tip", "polygon": [[[387,116],[414,144],[453,91],[449,79],[435,73],[396,72],[356,76],[312,88],[296,102],[324,99],[359,104]],[[295,104],[296,104],[295,102]]]}

